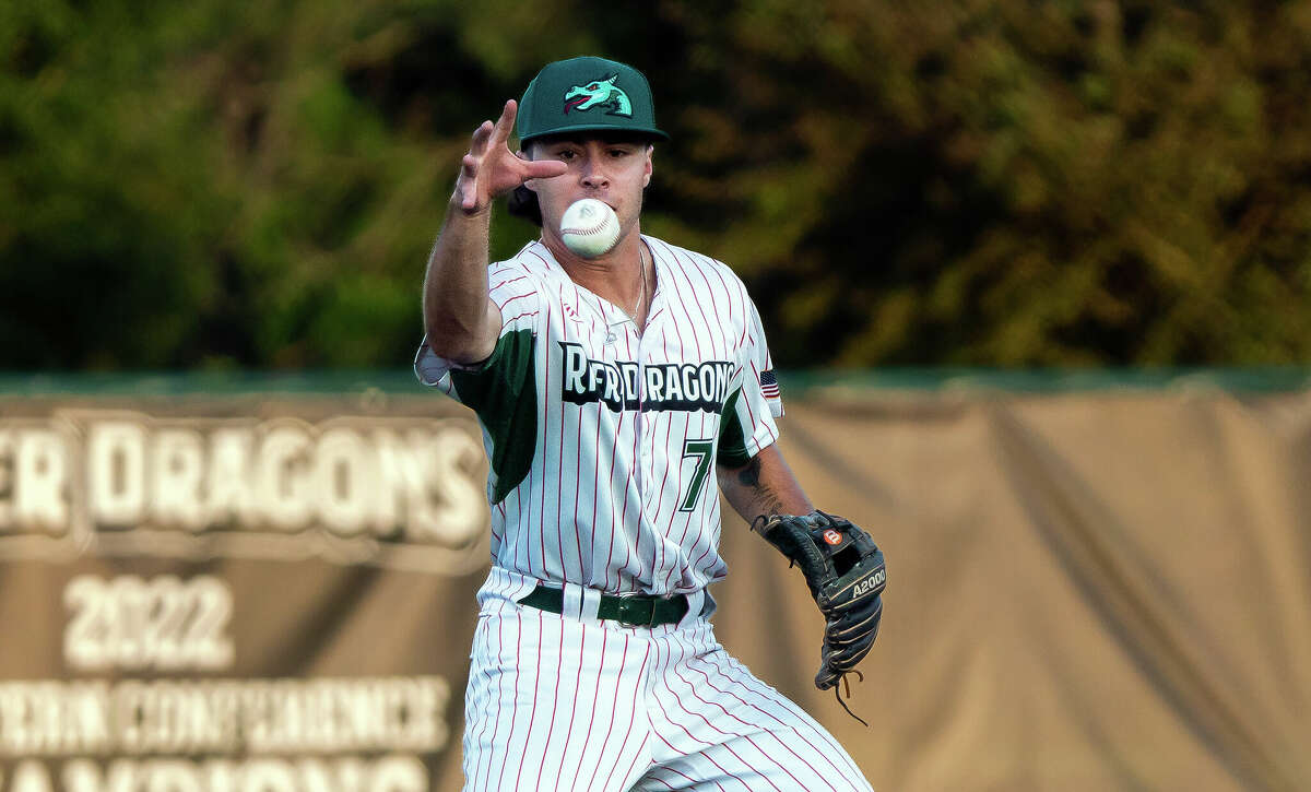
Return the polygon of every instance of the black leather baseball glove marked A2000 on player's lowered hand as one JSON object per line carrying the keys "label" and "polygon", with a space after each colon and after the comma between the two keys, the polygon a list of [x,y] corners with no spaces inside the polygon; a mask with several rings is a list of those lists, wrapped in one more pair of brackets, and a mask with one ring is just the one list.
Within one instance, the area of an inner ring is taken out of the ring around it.
{"label": "black leather baseball glove marked A2000 on player's lowered hand", "polygon": [[815,687],[829,690],[848,673],[860,675],[856,663],[869,654],[884,614],[888,572],[878,545],[850,521],[823,511],[760,517],[753,527],[801,568],[827,622]]}

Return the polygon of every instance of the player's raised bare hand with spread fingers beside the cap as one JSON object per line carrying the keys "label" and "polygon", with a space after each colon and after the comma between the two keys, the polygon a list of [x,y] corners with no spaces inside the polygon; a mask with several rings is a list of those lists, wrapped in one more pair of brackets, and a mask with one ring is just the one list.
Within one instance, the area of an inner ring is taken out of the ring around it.
{"label": "player's raised bare hand with spread fingers beside the cap", "polygon": [[510,151],[507,142],[517,111],[518,105],[510,100],[496,123],[484,121],[473,131],[473,142],[460,160],[460,176],[455,181],[455,198],[465,214],[481,212],[493,198],[530,178],[549,178],[569,169],[558,160],[526,160]]}

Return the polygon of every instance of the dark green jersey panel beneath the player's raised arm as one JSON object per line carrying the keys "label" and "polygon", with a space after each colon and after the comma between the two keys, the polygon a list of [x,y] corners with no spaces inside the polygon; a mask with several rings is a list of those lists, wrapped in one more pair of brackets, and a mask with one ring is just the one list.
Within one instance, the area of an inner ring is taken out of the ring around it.
{"label": "dark green jersey panel beneath the player's raised arm", "polygon": [[535,344],[532,330],[514,330],[501,336],[476,370],[451,371],[460,403],[477,413],[492,437],[493,506],[527,477],[538,447]]}

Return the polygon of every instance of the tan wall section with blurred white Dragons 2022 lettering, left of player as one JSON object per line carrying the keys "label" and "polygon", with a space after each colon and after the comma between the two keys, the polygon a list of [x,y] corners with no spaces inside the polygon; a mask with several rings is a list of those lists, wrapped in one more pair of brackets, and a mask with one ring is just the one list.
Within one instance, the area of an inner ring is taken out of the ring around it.
{"label": "tan wall section with blurred white Dragons 2022 lettering, left of player", "polygon": [[458,785],[486,463],[405,401],[0,403],[0,792]]}

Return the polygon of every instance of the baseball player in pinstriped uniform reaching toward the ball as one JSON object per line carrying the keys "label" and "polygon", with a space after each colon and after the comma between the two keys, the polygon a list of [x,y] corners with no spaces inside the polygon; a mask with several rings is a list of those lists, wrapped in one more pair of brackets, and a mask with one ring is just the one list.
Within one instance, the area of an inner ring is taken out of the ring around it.
{"label": "baseball player in pinstriped uniform reaching toward the ball", "polygon": [[[716,483],[801,563],[827,619],[823,688],[873,641],[882,556],[815,513],[779,452],[783,405],[742,282],[641,233],[663,139],[637,69],[548,64],[475,131],[427,264],[416,372],[477,413],[490,460],[465,789],[869,789],[708,620],[726,572]],[[489,265],[506,194],[541,237]],[[619,220],[593,258],[560,235],[581,198]]]}

